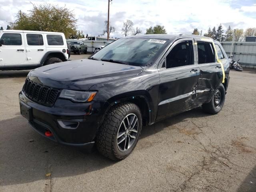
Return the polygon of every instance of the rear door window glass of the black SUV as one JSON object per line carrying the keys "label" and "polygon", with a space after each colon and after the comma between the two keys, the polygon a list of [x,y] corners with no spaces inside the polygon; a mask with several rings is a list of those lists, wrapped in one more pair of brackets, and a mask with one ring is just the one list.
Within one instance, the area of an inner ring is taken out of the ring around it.
{"label": "rear door window glass of the black SUV", "polygon": [[213,45],[208,42],[197,42],[198,50],[198,64],[214,63],[214,49]]}

